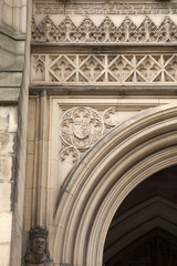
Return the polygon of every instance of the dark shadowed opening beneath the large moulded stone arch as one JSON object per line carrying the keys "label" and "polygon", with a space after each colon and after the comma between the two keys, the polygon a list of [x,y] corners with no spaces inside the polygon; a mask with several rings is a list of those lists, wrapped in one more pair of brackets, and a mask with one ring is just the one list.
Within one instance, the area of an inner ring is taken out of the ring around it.
{"label": "dark shadowed opening beneath the large moulded stone arch", "polygon": [[142,182],[110,226],[105,266],[177,265],[177,165]]}

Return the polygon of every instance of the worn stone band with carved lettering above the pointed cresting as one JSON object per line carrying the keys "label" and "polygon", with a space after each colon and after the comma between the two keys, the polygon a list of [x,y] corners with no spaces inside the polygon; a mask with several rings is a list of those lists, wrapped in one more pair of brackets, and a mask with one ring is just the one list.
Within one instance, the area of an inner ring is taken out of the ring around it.
{"label": "worn stone band with carved lettering above the pointed cresting", "polygon": [[139,1],[34,1],[34,14],[176,14],[174,2]]}

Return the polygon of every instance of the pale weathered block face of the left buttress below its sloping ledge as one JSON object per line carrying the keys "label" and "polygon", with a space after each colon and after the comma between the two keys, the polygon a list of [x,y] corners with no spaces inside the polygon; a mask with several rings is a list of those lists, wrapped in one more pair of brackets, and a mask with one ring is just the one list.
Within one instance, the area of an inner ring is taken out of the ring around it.
{"label": "pale weathered block face of the left buttress below its sloping ledge", "polygon": [[8,266],[10,260],[17,120],[17,105],[0,106],[0,265],[2,266]]}

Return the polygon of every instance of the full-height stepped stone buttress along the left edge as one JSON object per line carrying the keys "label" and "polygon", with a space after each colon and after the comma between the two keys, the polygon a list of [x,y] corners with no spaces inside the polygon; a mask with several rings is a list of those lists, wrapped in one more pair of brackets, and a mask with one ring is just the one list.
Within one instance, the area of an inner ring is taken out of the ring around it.
{"label": "full-height stepped stone buttress along the left edge", "polygon": [[[0,265],[21,265],[29,78],[27,0],[0,2]],[[24,71],[25,65],[25,71]],[[15,250],[14,250],[15,248]]]}

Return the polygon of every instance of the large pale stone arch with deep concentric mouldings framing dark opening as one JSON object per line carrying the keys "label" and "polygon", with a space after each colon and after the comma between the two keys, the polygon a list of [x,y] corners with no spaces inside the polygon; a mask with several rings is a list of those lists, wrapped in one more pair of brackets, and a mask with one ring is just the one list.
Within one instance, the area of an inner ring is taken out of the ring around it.
{"label": "large pale stone arch with deep concentric mouldings framing dark opening", "polygon": [[55,215],[54,262],[101,266],[111,221],[128,193],[177,163],[177,105],[149,109],[116,126],[67,177]]}

